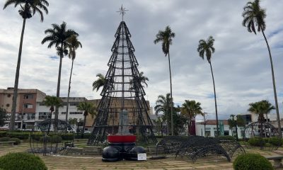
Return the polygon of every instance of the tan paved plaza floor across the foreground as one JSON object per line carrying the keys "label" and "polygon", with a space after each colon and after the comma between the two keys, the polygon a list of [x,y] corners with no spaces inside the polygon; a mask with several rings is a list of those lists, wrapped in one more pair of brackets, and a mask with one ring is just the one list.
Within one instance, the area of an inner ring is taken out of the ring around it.
{"label": "tan paved plaza floor across the foreground", "polygon": [[[8,152],[26,152],[29,148],[29,143],[24,143],[18,146],[0,147],[0,157]],[[257,152],[264,156],[283,155],[283,148],[279,148],[275,152],[267,152],[260,150],[247,150],[246,152]],[[233,169],[233,160],[228,162],[225,157],[205,157],[197,159],[192,163],[186,157],[168,157],[166,159],[148,159],[142,162],[120,161],[120,162],[102,162],[100,156],[76,156],[69,154],[68,156],[40,156],[48,169],[50,170],[73,170],[73,169],[151,169],[151,170],[173,170],[173,169]],[[150,156],[149,156],[150,157]]]}

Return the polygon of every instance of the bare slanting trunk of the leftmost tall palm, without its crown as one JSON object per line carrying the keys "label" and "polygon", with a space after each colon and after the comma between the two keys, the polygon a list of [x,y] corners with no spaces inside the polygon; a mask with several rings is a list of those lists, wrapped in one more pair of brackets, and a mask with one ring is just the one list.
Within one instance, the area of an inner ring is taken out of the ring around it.
{"label": "bare slanting trunk of the leftmost tall palm, without its crown", "polygon": [[16,106],[18,97],[18,78],[20,77],[20,67],[21,67],[21,55],[23,47],[23,34],[25,33],[25,18],[23,19],[23,28],[21,33],[20,47],[18,49],[18,62],[16,68],[15,84],[13,88],[13,103],[12,103],[12,113],[10,118],[10,130],[15,130],[15,117],[16,117]]}

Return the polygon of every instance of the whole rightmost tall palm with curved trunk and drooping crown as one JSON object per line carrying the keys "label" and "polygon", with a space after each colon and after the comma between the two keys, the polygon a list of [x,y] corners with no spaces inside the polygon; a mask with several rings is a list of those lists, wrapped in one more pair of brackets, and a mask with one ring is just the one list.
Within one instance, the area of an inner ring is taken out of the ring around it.
{"label": "whole rightmost tall palm with curved trunk and drooping crown", "polygon": [[281,132],[281,123],[279,117],[279,108],[277,102],[277,92],[275,86],[275,74],[273,71],[273,63],[272,63],[272,56],[270,52],[270,46],[268,45],[267,38],[265,37],[265,17],[266,12],[265,9],[260,8],[260,0],[255,0],[253,2],[249,1],[245,7],[243,7],[243,26],[248,28],[248,32],[255,33],[255,28],[257,27],[258,32],[262,32],[263,37],[265,38],[265,42],[267,45],[268,54],[270,55],[270,66],[271,66],[271,73],[272,73],[272,83],[273,83],[273,92],[275,96],[275,108],[276,108],[276,115],[277,115],[277,124],[278,124],[278,132],[279,136],[282,137]]}

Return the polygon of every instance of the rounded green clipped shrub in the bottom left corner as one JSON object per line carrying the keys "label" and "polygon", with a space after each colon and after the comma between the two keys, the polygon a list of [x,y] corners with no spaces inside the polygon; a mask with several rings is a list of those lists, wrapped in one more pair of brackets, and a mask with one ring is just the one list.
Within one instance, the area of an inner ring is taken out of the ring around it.
{"label": "rounded green clipped shrub in the bottom left corner", "polygon": [[47,166],[34,154],[8,153],[0,157],[0,169],[4,170],[47,170]]}

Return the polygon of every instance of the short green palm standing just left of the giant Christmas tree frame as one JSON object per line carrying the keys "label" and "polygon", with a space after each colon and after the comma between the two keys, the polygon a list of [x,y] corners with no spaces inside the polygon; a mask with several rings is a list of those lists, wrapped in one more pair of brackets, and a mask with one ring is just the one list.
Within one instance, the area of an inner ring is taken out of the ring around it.
{"label": "short green palm standing just left of the giant Christmas tree frame", "polygon": [[84,133],[84,129],[86,127],[86,116],[90,114],[91,117],[93,118],[93,116],[96,115],[96,107],[93,106],[93,103],[83,101],[79,103],[79,105],[76,106],[76,108],[78,108],[79,111],[83,111],[83,133]]}

